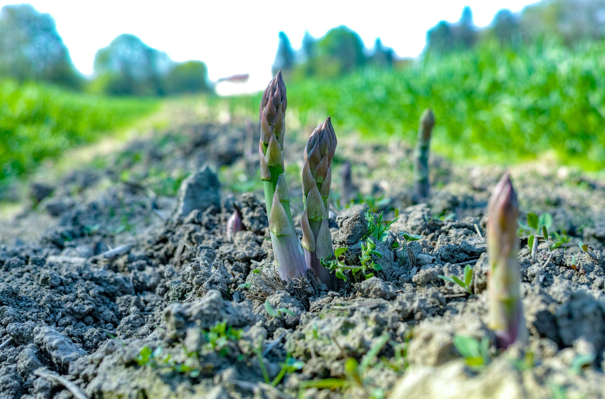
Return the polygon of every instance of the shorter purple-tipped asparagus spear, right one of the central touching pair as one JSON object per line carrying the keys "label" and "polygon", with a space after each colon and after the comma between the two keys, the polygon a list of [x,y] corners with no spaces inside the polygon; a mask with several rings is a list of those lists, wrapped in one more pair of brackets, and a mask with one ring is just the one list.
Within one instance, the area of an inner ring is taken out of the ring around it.
{"label": "shorter purple-tipped asparagus spear, right one of the central touching pair", "polygon": [[304,149],[301,229],[307,267],[313,269],[330,290],[336,288],[335,277],[320,261],[334,258],[332,235],[328,227],[328,202],[335,151],[336,134],[330,117],[327,117],[324,123],[315,128]]}

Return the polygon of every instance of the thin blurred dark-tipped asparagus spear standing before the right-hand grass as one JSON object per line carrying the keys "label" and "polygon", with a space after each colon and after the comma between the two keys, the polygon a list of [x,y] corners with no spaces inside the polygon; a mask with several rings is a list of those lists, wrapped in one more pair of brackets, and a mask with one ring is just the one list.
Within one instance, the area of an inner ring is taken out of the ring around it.
{"label": "thin blurred dark-tipped asparagus spear standing before the right-hand grass", "polygon": [[414,196],[418,201],[426,198],[430,191],[428,181],[428,148],[431,143],[431,132],[435,125],[435,115],[428,108],[420,117],[418,141],[414,152]]}

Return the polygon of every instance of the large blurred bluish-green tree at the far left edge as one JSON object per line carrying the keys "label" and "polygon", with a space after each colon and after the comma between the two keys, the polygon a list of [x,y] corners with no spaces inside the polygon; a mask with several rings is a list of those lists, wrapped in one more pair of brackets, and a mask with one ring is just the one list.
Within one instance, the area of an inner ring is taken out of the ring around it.
{"label": "large blurred bluish-green tree at the far left edge", "polygon": [[53,18],[29,4],[6,5],[0,11],[0,76],[71,88],[82,81]]}

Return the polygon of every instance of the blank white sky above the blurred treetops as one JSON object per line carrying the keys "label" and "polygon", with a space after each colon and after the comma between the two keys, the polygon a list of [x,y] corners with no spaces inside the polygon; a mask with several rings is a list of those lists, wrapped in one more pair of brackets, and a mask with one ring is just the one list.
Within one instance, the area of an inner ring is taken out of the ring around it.
{"label": "blank white sky above the blurred treetops", "polygon": [[[19,2],[19,1],[16,1]],[[0,6],[15,4],[0,0]],[[278,32],[286,32],[298,49],[308,30],[320,37],[330,28],[347,25],[366,47],[376,37],[400,57],[416,57],[429,28],[441,20],[455,22],[465,5],[477,26],[488,25],[495,13],[520,11],[532,0],[400,0],[381,1],[129,1],[31,0],[50,13],[57,31],[83,74],[93,73],[94,54],[121,33],[165,51],[175,61],[203,60],[209,77],[249,73],[261,87],[270,79]]]}

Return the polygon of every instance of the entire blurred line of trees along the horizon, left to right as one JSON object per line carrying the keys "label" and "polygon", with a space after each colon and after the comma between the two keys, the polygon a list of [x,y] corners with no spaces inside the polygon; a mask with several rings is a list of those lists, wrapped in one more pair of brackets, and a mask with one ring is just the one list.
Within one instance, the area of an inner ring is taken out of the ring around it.
{"label": "entire blurred line of trees along the horizon, left to right", "polygon": [[[472,50],[485,41],[512,48],[545,40],[573,46],[605,36],[603,15],[605,0],[550,0],[522,13],[500,10],[488,27],[479,29],[471,9],[465,7],[458,22],[440,21],[427,32],[424,55]],[[396,61],[393,49],[381,39],[367,49],[355,31],[339,26],[319,38],[307,32],[298,51],[280,32],[272,69],[273,73],[281,69],[286,79],[333,79],[365,66],[390,68]],[[87,80],[74,68],[53,18],[28,4],[7,5],[0,11],[1,77],[119,96],[212,91],[206,64],[174,62],[131,34],[121,34],[97,51],[94,78]]]}

